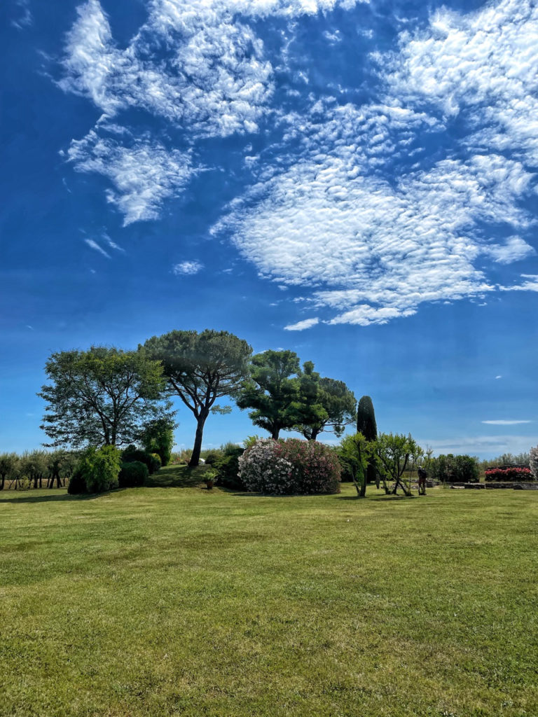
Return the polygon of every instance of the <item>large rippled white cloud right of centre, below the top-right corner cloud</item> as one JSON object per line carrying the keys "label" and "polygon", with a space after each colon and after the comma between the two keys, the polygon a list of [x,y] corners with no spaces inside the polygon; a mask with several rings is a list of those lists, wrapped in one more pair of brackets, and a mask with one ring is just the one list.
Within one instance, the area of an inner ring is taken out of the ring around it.
{"label": "large rippled white cloud right of centre, below the top-right corner cloud", "polygon": [[311,136],[301,161],[254,187],[261,201],[236,202],[214,228],[232,229],[261,276],[314,287],[311,302],[339,310],[330,323],[387,323],[425,301],[483,295],[495,287],[474,266],[480,255],[509,261],[531,250],[517,237],[491,246],[475,230],[478,222],[527,226],[514,203],[530,178],[520,163],[473,156],[390,182],[361,173],[354,123],[339,132],[332,153],[326,132]]}

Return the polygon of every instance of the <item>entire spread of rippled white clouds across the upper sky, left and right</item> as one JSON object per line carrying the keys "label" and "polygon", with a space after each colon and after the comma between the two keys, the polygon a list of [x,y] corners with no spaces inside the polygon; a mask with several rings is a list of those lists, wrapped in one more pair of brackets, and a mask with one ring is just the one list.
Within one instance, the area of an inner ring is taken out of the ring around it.
{"label": "entire spread of rippled white clouds across the upper sky, left and right", "polygon": [[[489,278],[489,267],[534,253],[538,7],[441,9],[414,30],[407,24],[392,47],[364,53],[372,91],[357,92],[353,68],[312,88],[297,24],[345,22],[356,5],[153,0],[120,48],[98,0],[88,1],[67,36],[59,84],[103,114],[67,158],[110,181],[108,200],[129,224],[158,219],[184,191],[203,168],[204,141],[234,136],[248,154],[253,136],[265,138],[211,232],[262,277],[301,288],[295,306],[308,315],[289,329],[386,323],[423,302],[538,290],[533,275],[509,285]],[[282,24],[288,39],[275,49],[264,32]],[[323,34],[331,52],[347,42],[336,26]],[[357,28],[357,37],[372,31]],[[286,68],[298,81],[282,93]],[[133,109],[179,140],[129,126]]]}

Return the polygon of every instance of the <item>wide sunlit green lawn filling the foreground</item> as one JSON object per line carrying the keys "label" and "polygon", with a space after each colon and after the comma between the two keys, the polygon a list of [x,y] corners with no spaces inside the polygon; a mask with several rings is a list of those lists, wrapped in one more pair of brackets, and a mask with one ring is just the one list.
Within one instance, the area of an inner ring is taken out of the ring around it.
{"label": "wide sunlit green lawn filling the foreground", "polygon": [[538,715],[538,491],[199,475],[0,493],[1,715]]}

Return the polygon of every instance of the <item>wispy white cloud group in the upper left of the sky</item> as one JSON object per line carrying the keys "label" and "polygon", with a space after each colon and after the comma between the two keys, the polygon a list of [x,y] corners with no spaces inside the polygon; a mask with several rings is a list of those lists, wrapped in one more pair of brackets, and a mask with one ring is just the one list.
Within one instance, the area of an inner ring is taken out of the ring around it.
{"label": "wispy white cloud group in the upper left of the sky", "polygon": [[58,85],[92,100],[103,116],[88,136],[72,143],[70,158],[81,171],[113,181],[116,191],[108,199],[126,224],[155,219],[162,201],[184,186],[184,169],[177,166],[184,161],[160,146],[152,174],[145,158],[139,163],[139,151],[97,139],[98,127],[123,133],[121,120],[110,120],[134,108],[168,120],[190,142],[258,132],[260,118],[273,111],[273,67],[255,30],[239,18],[292,19],[350,8],[356,1],[368,0],[151,0],[148,19],[121,48],[100,2],[88,0],[67,33]]}

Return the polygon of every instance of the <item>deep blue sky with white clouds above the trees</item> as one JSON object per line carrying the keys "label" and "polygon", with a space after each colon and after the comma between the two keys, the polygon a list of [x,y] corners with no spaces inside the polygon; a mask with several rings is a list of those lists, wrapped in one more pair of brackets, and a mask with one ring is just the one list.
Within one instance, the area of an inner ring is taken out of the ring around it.
{"label": "deep blue sky with white clouds above the trees", "polygon": [[0,450],[44,440],[49,353],[173,328],[291,348],[435,453],[538,443],[532,0],[0,18]]}

